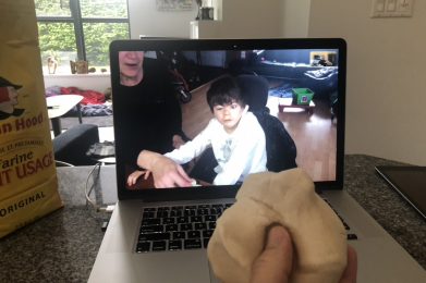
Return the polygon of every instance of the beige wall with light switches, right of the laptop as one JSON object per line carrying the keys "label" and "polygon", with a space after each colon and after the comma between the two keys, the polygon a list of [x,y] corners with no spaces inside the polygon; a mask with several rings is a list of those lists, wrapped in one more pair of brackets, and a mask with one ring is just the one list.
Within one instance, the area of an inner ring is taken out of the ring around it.
{"label": "beige wall with light switches, right of the laptop", "polygon": [[372,0],[312,1],[311,37],[348,41],[346,152],[426,165],[426,1],[370,19]]}

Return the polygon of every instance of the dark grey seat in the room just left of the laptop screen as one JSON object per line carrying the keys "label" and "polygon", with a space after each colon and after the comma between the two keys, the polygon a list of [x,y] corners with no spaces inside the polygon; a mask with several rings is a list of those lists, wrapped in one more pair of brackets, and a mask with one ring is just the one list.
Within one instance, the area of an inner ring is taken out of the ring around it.
{"label": "dark grey seat in the room just left of the laptop screen", "polygon": [[87,149],[99,143],[97,125],[77,124],[52,140],[57,165],[94,165],[96,160],[86,155]]}

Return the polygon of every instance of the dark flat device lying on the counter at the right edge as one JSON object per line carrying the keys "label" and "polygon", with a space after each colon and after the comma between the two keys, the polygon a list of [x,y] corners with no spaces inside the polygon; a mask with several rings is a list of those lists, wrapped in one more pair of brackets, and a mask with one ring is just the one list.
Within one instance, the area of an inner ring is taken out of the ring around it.
{"label": "dark flat device lying on the counter at the right edge", "polygon": [[376,171],[426,219],[426,167],[378,165]]}

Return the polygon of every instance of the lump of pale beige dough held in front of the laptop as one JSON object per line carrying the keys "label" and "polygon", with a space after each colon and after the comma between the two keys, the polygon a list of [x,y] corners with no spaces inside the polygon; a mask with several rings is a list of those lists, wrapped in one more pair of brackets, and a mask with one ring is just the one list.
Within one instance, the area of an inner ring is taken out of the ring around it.
{"label": "lump of pale beige dough held in front of the laptop", "polygon": [[226,283],[249,282],[267,227],[284,226],[295,251],[290,282],[339,282],[346,266],[346,234],[332,209],[301,169],[249,175],[236,202],[217,222],[207,253]]}

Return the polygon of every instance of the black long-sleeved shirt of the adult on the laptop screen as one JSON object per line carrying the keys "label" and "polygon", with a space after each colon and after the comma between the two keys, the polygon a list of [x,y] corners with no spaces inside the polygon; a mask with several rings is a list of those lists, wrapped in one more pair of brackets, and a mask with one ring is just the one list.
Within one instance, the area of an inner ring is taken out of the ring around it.
{"label": "black long-sleeved shirt of the adult on the laptop screen", "polygon": [[138,85],[120,86],[112,94],[117,148],[124,148],[117,157],[135,169],[143,149],[171,151],[173,135],[183,134],[181,106],[166,65],[145,58],[143,69]]}

